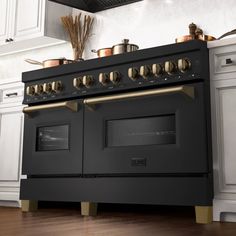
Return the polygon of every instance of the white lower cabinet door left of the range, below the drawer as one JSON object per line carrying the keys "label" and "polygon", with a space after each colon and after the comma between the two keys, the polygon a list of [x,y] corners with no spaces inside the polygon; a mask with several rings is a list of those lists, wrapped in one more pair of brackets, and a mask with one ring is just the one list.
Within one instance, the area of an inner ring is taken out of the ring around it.
{"label": "white lower cabinet door left of the range, below the drawer", "polygon": [[23,115],[21,107],[0,109],[0,182],[19,181]]}

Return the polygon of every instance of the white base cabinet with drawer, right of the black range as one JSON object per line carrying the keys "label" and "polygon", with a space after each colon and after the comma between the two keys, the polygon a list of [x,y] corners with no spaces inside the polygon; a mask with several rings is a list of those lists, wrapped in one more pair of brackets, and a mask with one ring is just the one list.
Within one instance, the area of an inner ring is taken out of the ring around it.
{"label": "white base cabinet with drawer, right of the black range", "polygon": [[210,77],[213,220],[236,222],[236,42],[210,48]]}

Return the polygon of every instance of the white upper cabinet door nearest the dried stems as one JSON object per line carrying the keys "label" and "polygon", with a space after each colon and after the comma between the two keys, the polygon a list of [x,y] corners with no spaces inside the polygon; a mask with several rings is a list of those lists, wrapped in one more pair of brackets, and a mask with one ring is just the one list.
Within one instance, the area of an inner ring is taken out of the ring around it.
{"label": "white upper cabinet door nearest the dried stems", "polygon": [[38,37],[43,34],[45,0],[13,0],[15,19],[11,25],[14,41]]}

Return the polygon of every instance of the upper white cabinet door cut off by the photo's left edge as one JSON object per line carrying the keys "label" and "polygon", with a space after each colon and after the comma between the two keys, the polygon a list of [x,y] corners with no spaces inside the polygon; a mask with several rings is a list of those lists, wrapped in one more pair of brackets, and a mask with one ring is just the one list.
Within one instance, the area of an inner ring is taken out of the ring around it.
{"label": "upper white cabinet door cut off by the photo's left edge", "polygon": [[9,34],[11,1],[1,0],[0,7],[0,44],[5,44]]}

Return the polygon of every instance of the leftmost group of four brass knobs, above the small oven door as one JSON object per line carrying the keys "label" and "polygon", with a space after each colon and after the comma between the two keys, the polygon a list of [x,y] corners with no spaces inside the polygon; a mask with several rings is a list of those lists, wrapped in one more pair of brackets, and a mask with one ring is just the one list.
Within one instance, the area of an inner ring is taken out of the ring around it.
{"label": "leftmost group of four brass knobs, above the small oven door", "polygon": [[50,83],[30,85],[26,88],[26,94],[29,96],[59,93],[62,90],[61,81],[53,81]]}

